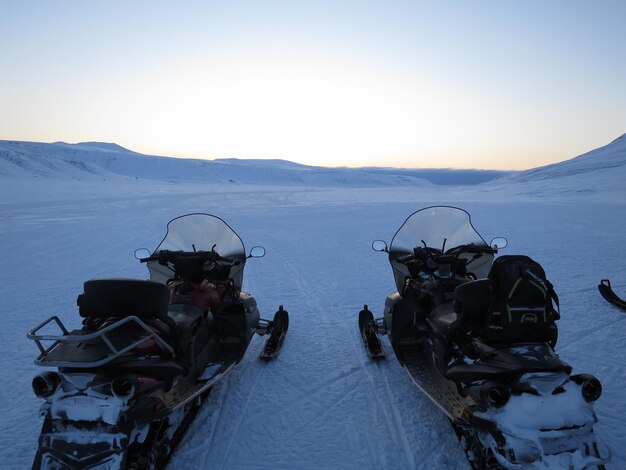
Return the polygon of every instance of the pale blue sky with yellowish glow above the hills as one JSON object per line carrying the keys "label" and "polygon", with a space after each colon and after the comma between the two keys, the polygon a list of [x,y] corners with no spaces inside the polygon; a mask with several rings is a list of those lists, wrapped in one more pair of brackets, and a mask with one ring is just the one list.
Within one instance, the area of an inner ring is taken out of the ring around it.
{"label": "pale blue sky with yellowish glow above the hills", "polygon": [[626,1],[0,0],[0,139],[520,170],[626,132]]}

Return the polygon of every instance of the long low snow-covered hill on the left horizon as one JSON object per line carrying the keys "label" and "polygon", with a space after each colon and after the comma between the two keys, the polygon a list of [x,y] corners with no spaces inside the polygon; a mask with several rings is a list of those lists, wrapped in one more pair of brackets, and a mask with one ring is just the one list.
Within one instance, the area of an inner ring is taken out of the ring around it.
{"label": "long low snow-covered hill on the left horizon", "polygon": [[288,186],[429,186],[412,175],[323,168],[284,160],[198,160],[142,155],[116,144],[0,141],[0,175],[47,178],[141,178],[169,182]]}

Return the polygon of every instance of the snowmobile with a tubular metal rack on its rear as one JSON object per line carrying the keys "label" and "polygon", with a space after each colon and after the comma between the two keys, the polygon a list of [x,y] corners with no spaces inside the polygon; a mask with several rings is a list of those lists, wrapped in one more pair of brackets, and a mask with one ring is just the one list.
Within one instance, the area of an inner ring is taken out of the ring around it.
{"label": "snowmobile with a tubular metal rack on its rear", "polygon": [[246,260],[264,255],[257,246],[246,256],[222,219],[184,215],[154,252],[137,250],[150,280],[89,280],[77,299],[81,328],[57,316],[33,328],[35,364],[56,368],[33,379],[44,400],[33,468],[163,467],[253,335],[269,335],[261,359],[281,349],[287,311],[261,319],[241,290]]}

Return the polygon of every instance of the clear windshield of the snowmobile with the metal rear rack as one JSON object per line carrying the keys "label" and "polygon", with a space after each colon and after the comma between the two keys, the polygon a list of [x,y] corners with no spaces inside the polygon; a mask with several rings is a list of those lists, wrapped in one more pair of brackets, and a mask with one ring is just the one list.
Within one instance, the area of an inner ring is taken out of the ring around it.
{"label": "clear windshield of the snowmobile with the metal rear rack", "polygon": [[[246,249],[239,235],[219,217],[210,214],[187,214],[171,220],[167,224],[165,238],[152,254],[156,255],[163,250],[216,251],[220,256],[233,258],[239,263],[231,268],[230,278],[235,288],[241,289]],[[151,281],[165,283],[174,277],[174,272],[158,261],[148,262],[148,270]]]}

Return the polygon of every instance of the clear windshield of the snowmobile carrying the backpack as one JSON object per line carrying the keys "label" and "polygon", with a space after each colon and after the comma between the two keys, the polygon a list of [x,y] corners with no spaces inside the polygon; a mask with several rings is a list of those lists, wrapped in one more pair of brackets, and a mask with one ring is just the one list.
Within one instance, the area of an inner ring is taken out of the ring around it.
{"label": "clear windshield of the snowmobile carrying the backpack", "polygon": [[[488,247],[483,237],[476,231],[470,215],[463,209],[450,206],[426,207],[411,214],[398,229],[389,247],[389,262],[393,268],[396,287],[401,292],[409,277],[406,265],[397,261],[398,257],[413,253],[417,247],[428,247],[448,252],[461,245]],[[470,261],[473,254],[461,254],[468,260],[467,271],[476,278],[484,278],[489,273],[493,255],[484,253]]]}

